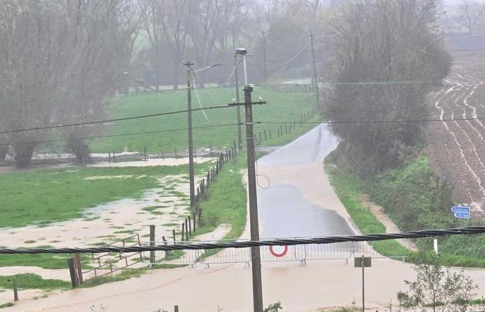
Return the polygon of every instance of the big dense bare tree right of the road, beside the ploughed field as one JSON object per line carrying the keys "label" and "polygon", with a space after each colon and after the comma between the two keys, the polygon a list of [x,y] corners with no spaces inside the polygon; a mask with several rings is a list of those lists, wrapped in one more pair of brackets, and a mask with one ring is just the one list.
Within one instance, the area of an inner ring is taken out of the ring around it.
{"label": "big dense bare tree right of the road, beside the ploughed field", "polygon": [[[423,119],[430,82],[444,78],[450,58],[439,36],[437,0],[342,1],[330,19],[335,121]],[[329,70],[326,68],[326,70]],[[418,125],[333,123],[342,148],[364,173],[403,164],[421,137]]]}

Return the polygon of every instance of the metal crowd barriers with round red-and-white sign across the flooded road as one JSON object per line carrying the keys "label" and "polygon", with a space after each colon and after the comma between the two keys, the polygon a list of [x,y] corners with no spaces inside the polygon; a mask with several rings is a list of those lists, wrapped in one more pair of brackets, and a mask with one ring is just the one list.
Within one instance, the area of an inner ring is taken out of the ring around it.
{"label": "metal crowd barriers with round red-and-white sign across the flooded road", "polygon": [[[311,237],[304,237],[306,239]],[[299,239],[303,239],[300,237]],[[197,243],[231,243],[234,241],[247,240],[219,240],[219,241],[197,241],[197,242],[177,242],[184,244]],[[410,241],[407,240],[409,245]],[[155,241],[155,245],[165,245],[166,242]],[[170,243],[168,243],[170,244]],[[144,243],[150,245],[150,242]],[[409,250],[409,248],[407,248]],[[379,254],[367,242],[346,242],[346,243],[332,243],[332,244],[310,244],[310,245],[290,245],[290,246],[262,246],[261,261],[299,261],[306,264],[306,261],[314,260],[336,260],[342,259],[346,263],[353,257],[372,258],[402,258],[405,261],[407,255],[384,256]],[[150,252],[144,253],[145,259],[150,259]],[[150,266],[154,264],[173,264],[173,265],[188,265],[204,264],[210,266],[211,264],[220,263],[245,263],[247,266],[251,263],[251,248],[224,248],[215,250],[180,250],[173,252],[155,251],[155,263],[149,263]]]}

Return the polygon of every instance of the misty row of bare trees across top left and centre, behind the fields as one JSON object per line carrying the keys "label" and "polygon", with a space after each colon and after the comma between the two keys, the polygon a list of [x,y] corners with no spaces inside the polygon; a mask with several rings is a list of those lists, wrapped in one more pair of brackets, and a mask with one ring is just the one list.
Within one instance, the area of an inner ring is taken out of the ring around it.
{"label": "misty row of bare trees across top left and centre, behind the fields", "polygon": [[[269,62],[294,53],[291,40],[308,31],[298,16],[315,17],[320,1],[258,0],[4,0],[0,2],[0,130],[100,120],[116,89],[140,82],[179,85],[182,60],[220,71],[200,73],[221,83],[233,49],[257,50],[249,69],[261,77],[261,31],[270,31]],[[314,18],[315,19],[315,18]],[[292,26],[294,26],[292,28]],[[287,33],[291,35],[286,36]],[[272,73],[298,66],[294,60]],[[209,76],[212,75],[212,76]],[[146,81],[145,81],[146,80]],[[0,161],[30,164],[35,143],[67,138],[78,162],[89,160],[82,137],[102,125],[0,134]]]}

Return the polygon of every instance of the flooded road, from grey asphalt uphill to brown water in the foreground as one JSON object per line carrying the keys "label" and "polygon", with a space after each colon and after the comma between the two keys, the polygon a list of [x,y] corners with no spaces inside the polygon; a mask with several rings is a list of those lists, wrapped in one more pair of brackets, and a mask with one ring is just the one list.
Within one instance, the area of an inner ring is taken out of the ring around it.
{"label": "flooded road, from grey asphalt uphill to brown water in the foreground", "polygon": [[[263,157],[258,162],[261,234],[265,237],[358,233],[337,198],[323,168],[323,157],[335,148],[335,139],[322,127]],[[243,238],[249,238],[245,231]],[[316,311],[361,302],[361,271],[342,259],[264,262],[265,305],[281,301],[283,311]],[[484,270],[466,273],[485,289]],[[412,266],[391,259],[373,259],[366,270],[366,304],[369,311],[396,304],[403,279],[412,279]],[[477,297],[484,295],[479,292]],[[245,263],[229,263],[152,270],[139,278],[19,302],[5,311],[252,311],[251,270]]]}

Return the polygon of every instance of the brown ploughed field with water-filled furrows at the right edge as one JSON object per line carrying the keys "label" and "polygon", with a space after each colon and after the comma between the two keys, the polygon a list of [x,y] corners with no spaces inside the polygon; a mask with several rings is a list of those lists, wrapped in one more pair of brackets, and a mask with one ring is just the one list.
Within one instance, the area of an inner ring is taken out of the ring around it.
{"label": "brown ploughed field with water-filled furrows at the right edge", "polygon": [[[428,97],[434,117],[444,121],[427,125],[427,154],[452,184],[455,200],[477,213],[485,210],[484,81],[485,62],[459,57],[443,87]],[[446,121],[469,118],[475,120]]]}

